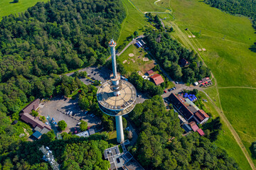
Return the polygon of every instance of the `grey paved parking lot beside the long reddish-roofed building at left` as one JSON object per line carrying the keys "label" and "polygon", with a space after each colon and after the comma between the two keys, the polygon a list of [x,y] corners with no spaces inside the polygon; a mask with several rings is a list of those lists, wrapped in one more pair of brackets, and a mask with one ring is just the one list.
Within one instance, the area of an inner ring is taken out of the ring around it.
{"label": "grey paved parking lot beside the long reddish-roofed building at left", "polygon": [[[73,111],[73,114],[67,115],[68,111]],[[81,111],[78,101],[72,99],[53,98],[51,101],[44,102],[43,108],[40,108],[38,113],[45,117],[55,118],[56,123],[65,120],[68,125],[65,132],[73,131],[75,127],[78,127],[80,120],[85,120],[89,127],[101,123],[101,120],[96,116],[92,118],[90,112],[85,114],[84,111]]]}

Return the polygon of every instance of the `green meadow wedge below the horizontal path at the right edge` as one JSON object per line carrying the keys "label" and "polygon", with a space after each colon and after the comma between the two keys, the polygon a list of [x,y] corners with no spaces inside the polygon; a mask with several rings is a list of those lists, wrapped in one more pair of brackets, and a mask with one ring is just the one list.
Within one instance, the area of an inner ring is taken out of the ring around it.
{"label": "green meadow wedge below the horizontal path at the right edge", "polygon": [[[219,89],[223,111],[238,132],[248,152],[256,141],[256,89]],[[256,164],[256,160],[254,159]]]}

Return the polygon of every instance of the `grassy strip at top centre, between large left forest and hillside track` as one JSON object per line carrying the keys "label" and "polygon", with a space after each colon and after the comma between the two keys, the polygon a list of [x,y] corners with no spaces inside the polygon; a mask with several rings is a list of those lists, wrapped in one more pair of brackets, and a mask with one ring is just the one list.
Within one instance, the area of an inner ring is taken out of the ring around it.
{"label": "grassy strip at top centre, between large left forest and hillside track", "polygon": [[128,0],[122,0],[122,3],[124,4],[127,17],[122,22],[122,28],[117,41],[118,45],[122,45],[127,40],[127,37],[131,36],[135,30],[138,31],[139,35],[143,35],[143,28],[149,26],[144,15],[137,11]]}

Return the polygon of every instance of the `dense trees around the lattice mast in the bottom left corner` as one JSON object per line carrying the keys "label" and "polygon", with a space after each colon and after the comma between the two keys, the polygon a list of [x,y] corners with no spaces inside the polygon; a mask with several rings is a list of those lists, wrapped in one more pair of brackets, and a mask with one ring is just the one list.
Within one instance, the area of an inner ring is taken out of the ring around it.
{"label": "dense trees around the lattice mast in the bottom left corner", "polygon": [[66,134],[63,140],[50,140],[43,135],[41,140],[21,142],[8,154],[1,155],[0,169],[50,169],[50,164],[43,161],[43,153],[38,149],[44,145],[53,152],[60,169],[107,170],[110,162],[103,160],[102,154],[109,145],[100,138],[97,134],[89,138]]}

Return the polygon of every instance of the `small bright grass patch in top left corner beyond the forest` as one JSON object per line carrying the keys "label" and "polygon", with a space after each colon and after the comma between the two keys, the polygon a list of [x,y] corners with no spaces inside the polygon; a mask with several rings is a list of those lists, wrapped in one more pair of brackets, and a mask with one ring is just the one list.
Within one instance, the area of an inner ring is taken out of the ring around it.
{"label": "small bright grass patch in top left corner beyond the forest", "polygon": [[9,16],[11,13],[21,13],[28,7],[34,6],[38,1],[48,0],[19,0],[18,3],[12,3],[13,0],[0,1],[0,21],[3,16]]}

